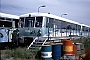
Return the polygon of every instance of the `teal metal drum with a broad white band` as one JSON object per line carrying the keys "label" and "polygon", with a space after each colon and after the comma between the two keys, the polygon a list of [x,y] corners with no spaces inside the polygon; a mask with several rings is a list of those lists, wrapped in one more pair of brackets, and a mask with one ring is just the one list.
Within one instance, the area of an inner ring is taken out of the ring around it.
{"label": "teal metal drum with a broad white band", "polygon": [[43,60],[52,60],[52,46],[51,45],[42,46],[41,57]]}

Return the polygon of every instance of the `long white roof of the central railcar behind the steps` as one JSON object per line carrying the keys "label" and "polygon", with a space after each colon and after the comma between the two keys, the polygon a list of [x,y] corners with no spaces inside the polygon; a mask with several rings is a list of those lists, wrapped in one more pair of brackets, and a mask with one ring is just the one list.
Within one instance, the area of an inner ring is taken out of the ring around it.
{"label": "long white roof of the central railcar behind the steps", "polygon": [[53,14],[48,14],[48,13],[27,13],[27,14],[23,14],[21,15],[20,17],[29,17],[29,15],[31,15],[32,17],[33,16],[46,16],[46,17],[51,17],[51,18],[55,18],[55,19],[59,19],[59,20],[62,20],[62,21],[66,21],[66,22],[69,22],[69,23],[73,23],[73,24],[78,24],[80,25],[80,23],[78,22],[75,22],[75,21],[72,21],[72,20],[69,20],[69,19],[66,19],[66,18],[62,18],[62,17],[59,17],[59,16],[56,16],[56,15],[53,15]]}

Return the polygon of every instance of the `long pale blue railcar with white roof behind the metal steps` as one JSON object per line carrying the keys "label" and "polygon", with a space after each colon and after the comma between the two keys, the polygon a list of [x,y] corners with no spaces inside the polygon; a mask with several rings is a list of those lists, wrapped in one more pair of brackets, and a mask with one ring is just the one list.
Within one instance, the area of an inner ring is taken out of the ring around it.
{"label": "long pale blue railcar with white roof behind the metal steps", "polygon": [[[50,13],[39,12],[21,15],[18,27],[19,41],[24,43],[32,42],[36,37],[82,36],[86,31],[82,29],[87,26]],[[86,33],[88,32],[86,31]]]}

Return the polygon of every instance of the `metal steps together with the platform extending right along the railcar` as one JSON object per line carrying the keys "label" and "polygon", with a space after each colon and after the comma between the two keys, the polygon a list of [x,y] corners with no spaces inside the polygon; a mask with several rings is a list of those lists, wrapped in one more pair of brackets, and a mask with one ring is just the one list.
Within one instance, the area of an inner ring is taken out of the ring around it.
{"label": "metal steps together with the platform extending right along the railcar", "polygon": [[69,39],[70,37],[36,37],[33,42],[28,46],[27,49],[31,51],[38,51],[41,49],[42,45],[49,43],[60,43],[61,39]]}

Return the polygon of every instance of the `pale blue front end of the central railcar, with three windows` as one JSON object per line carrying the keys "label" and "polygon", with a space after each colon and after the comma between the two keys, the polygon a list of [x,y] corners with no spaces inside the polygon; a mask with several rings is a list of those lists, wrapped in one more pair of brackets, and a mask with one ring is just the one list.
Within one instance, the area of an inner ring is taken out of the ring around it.
{"label": "pale blue front end of the central railcar, with three windows", "polygon": [[45,35],[45,20],[43,16],[20,17],[18,23],[19,42],[30,44],[34,38]]}

